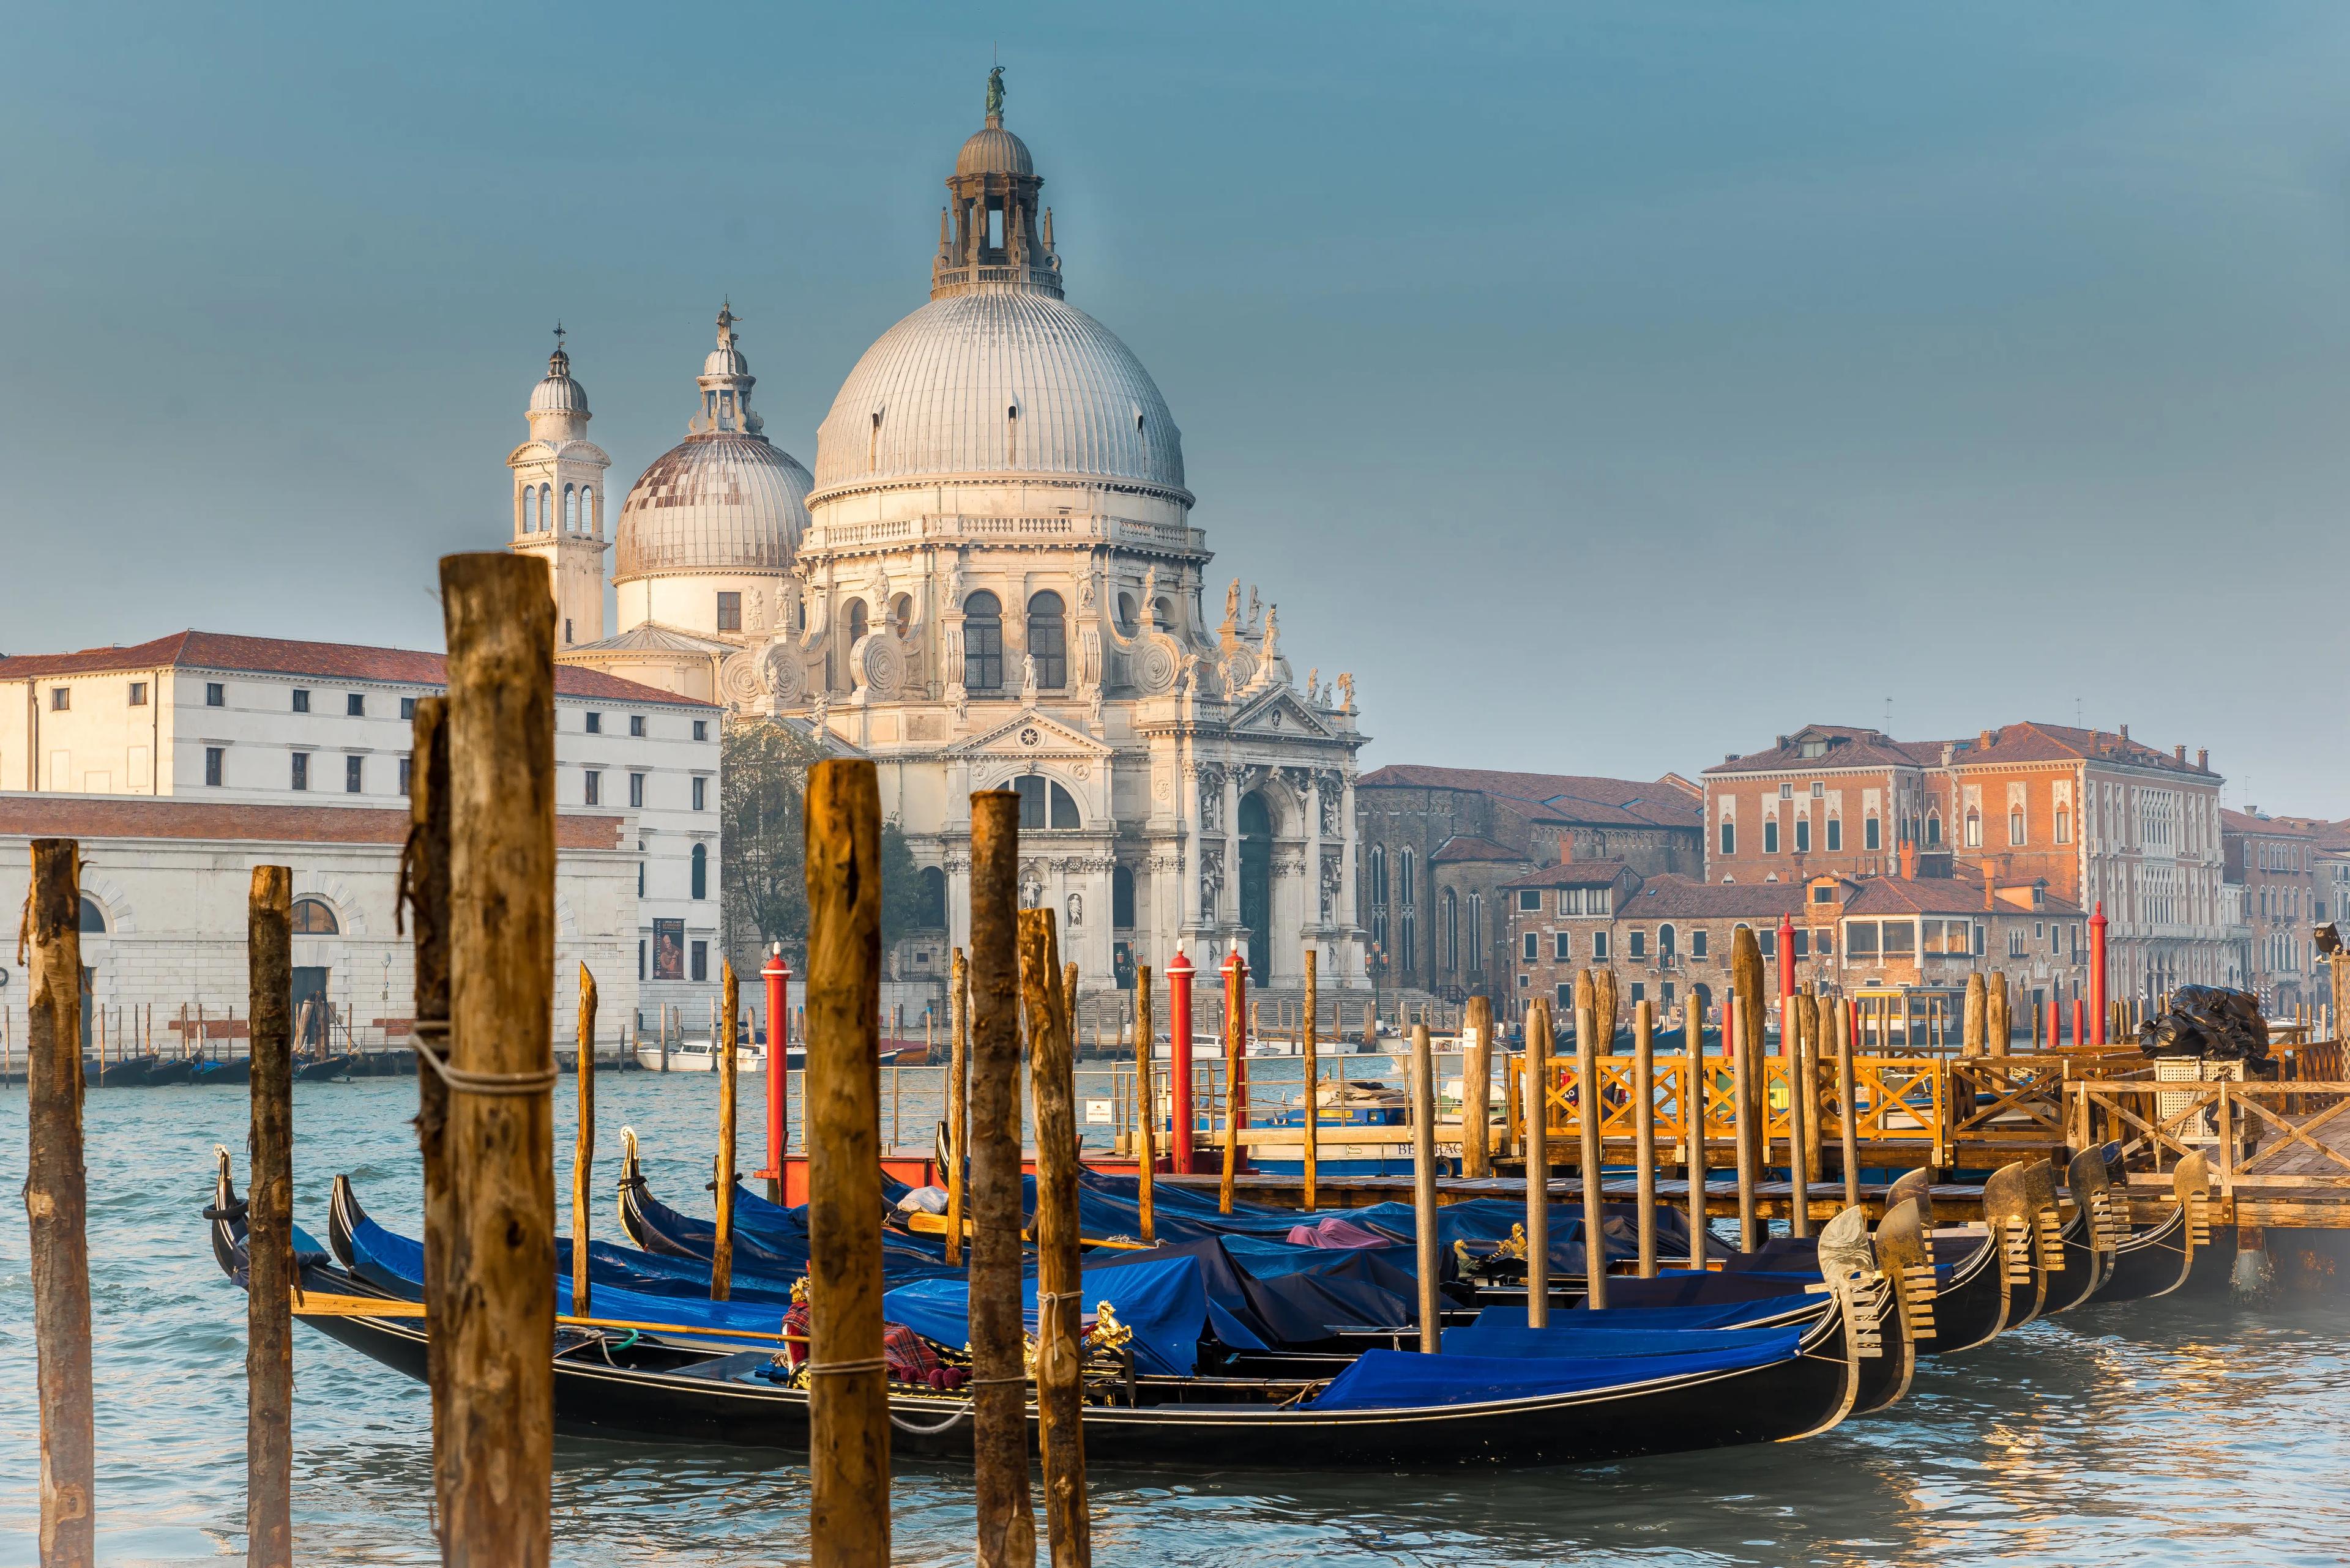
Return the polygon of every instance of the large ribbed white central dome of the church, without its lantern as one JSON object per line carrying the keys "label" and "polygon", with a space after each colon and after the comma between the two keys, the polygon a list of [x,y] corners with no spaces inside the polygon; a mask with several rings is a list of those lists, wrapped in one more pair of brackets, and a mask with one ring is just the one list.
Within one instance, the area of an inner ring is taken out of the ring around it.
{"label": "large ribbed white central dome of the church, without its lantern", "polygon": [[968,475],[1182,491],[1182,433],[1133,350],[1083,310],[1020,287],[949,294],[848,371],[815,433],[815,489]]}

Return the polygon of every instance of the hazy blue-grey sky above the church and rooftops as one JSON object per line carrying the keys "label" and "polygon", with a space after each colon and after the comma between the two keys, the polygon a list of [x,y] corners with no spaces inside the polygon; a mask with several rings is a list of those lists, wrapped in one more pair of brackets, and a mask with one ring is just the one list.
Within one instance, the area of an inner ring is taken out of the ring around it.
{"label": "hazy blue-grey sky above the church and rooftops", "polygon": [[[813,461],[1001,47],[1069,299],[1365,764],[1805,722],[2350,813],[2350,9],[14,7],[0,651],[439,646],[571,329],[625,482],[731,294]],[[1215,592],[1210,590],[1210,599]]]}

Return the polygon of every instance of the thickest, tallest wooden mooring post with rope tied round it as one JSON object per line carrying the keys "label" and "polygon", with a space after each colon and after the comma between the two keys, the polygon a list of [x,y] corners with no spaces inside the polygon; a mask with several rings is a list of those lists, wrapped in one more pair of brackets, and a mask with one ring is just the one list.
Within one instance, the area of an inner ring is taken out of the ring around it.
{"label": "thickest, tallest wooden mooring post with rope tied round it", "polygon": [[[454,1568],[538,1568],[555,1462],[555,599],[442,559],[449,637],[449,1507]],[[425,1215],[430,1220],[430,1211]]]}

